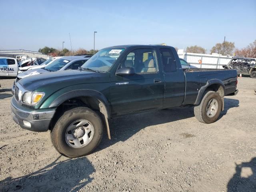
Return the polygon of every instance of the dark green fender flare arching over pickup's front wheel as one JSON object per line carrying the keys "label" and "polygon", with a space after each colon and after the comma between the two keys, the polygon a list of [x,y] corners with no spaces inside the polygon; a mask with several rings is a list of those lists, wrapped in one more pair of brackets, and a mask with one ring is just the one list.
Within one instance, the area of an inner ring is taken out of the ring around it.
{"label": "dark green fender flare arching over pickup's front wheel", "polygon": [[66,100],[77,98],[77,97],[93,97],[100,101],[100,108],[104,109],[104,115],[106,118],[110,118],[110,104],[104,94],[91,89],[81,89],[81,90],[71,90],[66,92],[60,96],[58,96],[54,101],[50,104],[49,108],[56,108]]}

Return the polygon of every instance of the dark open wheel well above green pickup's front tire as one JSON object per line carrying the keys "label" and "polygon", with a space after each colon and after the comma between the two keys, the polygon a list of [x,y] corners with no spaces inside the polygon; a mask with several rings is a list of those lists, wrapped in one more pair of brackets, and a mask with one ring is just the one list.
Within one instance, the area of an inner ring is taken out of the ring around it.
{"label": "dark open wheel well above green pickup's front tire", "polygon": [[[62,114],[64,114],[64,112],[66,110],[70,110],[72,108],[81,107],[81,106],[88,107],[88,108],[94,110],[96,113],[99,114],[100,118],[102,119],[102,122],[105,122],[104,115],[106,114],[106,111],[103,112],[103,110],[102,110],[102,106],[103,106],[103,108],[105,106],[104,106],[104,104],[102,104],[102,102],[100,100],[98,100],[94,97],[90,97],[90,96],[76,97],[76,98],[71,98],[71,99],[64,101],[62,104],[60,104],[56,108],[56,112],[55,112],[55,114],[52,118],[52,121],[50,123],[49,130],[52,130],[52,128],[54,128],[54,125],[56,124],[56,122],[58,121],[60,116],[62,116]],[[107,109],[105,109],[105,110],[107,110]]]}

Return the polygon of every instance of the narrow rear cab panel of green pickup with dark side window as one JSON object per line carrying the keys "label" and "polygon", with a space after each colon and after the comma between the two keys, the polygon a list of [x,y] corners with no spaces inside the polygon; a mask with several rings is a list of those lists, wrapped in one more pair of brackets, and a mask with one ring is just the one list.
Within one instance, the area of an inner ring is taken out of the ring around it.
{"label": "narrow rear cab panel of green pickup with dark side window", "polygon": [[175,56],[173,50],[160,49],[165,78],[164,107],[166,108],[181,106],[185,96],[184,72],[180,65],[180,59],[177,54]]}

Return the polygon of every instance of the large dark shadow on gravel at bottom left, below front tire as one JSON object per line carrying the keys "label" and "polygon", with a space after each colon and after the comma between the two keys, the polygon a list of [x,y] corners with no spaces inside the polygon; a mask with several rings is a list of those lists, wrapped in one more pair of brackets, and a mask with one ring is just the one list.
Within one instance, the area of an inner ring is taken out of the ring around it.
{"label": "large dark shadow on gravel at bottom left, below front tire", "polygon": [[92,182],[95,172],[86,157],[54,162],[26,176],[0,181],[0,191],[79,191]]}

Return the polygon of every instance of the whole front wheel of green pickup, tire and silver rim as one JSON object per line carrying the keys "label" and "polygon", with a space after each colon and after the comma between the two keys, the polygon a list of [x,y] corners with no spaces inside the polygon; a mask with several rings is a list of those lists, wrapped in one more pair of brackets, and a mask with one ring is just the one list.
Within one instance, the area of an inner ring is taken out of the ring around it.
{"label": "whole front wheel of green pickup, tire and silver rim", "polygon": [[102,120],[90,108],[76,107],[64,112],[51,130],[56,150],[70,158],[90,154],[102,138]]}

